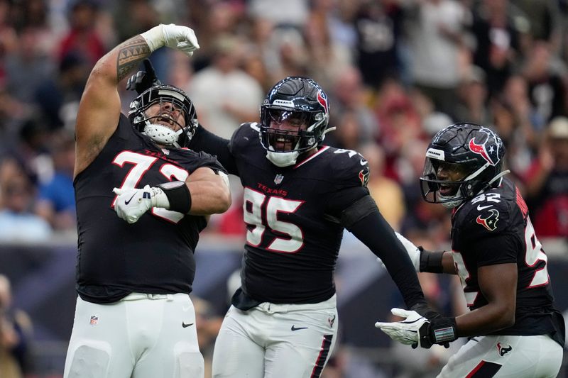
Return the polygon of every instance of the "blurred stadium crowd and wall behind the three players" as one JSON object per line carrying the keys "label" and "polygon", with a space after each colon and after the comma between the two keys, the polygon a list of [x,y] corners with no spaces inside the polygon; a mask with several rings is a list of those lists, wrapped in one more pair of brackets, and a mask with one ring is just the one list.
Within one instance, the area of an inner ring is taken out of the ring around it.
{"label": "blurred stadium crowd and wall behind the three players", "polygon": [[[447,248],[449,211],[420,199],[427,140],[452,121],[496,130],[568,312],[567,1],[0,0],[0,274],[33,324],[27,377],[62,375],[72,326],[72,130],[84,81],[116,43],[159,22],[195,28],[201,49],[190,60],[158,50],[158,76],[185,89],[201,123],[227,138],[258,119],[279,79],[317,79],[337,126],[325,143],[362,152],[379,209],[431,249]],[[133,97],[121,91],[123,111]],[[244,243],[231,183],[234,206],[212,218],[196,252],[206,357]],[[444,313],[464,311],[455,279],[420,276]],[[325,377],[428,377],[452,353],[401,348],[373,327],[400,297],[349,233],[337,289],[341,343]]]}

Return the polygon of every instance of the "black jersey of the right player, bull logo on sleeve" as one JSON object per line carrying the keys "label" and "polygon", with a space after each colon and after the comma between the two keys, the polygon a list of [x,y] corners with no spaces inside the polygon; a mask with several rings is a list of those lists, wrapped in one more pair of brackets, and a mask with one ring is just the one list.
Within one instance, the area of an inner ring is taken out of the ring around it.
{"label": "black jersey of the right player, bull logo on sleeve", "polygon": [[[557,330],[547,255],[530,223],[518,188],[508,179],[459,206],[452,216],[452,250],[467,305],[488,303],[477,269],[515,263],[518,267],[515,324],[498,335],[542,335]],[[562,336],[563,337],[563,336]]]}

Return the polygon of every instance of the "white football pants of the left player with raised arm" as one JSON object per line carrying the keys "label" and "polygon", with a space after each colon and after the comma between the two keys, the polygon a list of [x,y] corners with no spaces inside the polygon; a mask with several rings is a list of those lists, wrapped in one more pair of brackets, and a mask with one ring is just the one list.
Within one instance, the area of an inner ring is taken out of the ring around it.
{"label": "white football pants of the left player with raised arm", "polygon": [[133,293],[113,304],[77,298],[64,378],[203,378],[187,294]]}

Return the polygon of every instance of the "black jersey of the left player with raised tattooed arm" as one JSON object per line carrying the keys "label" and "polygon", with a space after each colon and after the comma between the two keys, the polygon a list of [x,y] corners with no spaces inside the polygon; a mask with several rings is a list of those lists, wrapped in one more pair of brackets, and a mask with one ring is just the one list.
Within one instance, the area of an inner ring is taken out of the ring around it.
{"label": "black jersey of the left player with raised tattooed arm", "polygon": [[107,145],[74,182],[82,299],[109,303],[131,292],[191,292],[193,253],[206,219],[153,208],[129,224],[116,216],[112,189],[185,181],[200,167],[224,171],[204,152],[158,148],[121,114]]}

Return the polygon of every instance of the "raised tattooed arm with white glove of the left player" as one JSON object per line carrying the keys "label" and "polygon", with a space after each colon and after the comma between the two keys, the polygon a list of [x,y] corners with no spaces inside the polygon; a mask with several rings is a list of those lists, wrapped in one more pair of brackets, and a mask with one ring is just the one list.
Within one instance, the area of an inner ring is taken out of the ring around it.
{"label": "raised tattooed arm with white glove of the left player", "polygon": [[185,26],[159,25],[116,46],[94,66],[85,86],[75,126],[75,176],[104,148],[119,123],[118,85],[141,60],[163,46],[191,55],[199,48]]}

